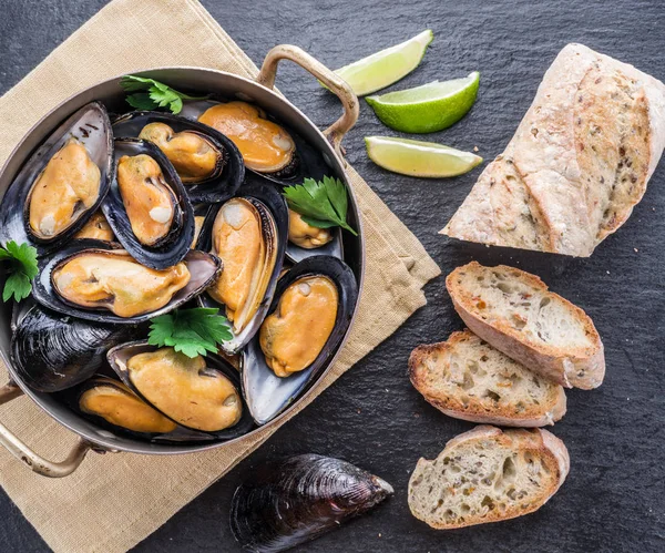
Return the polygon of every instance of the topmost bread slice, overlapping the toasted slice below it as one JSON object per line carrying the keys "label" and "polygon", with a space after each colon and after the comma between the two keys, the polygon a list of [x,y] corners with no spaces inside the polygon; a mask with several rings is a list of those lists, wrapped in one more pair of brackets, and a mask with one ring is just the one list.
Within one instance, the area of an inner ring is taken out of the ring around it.
{"label": "topmost bread slice, overlapping the toasted slice below it", "polygon": [[603,342],[591,318],[539,277],[472,262],[446,287],[467,326],[507,356],[566,388],[602,383]]}

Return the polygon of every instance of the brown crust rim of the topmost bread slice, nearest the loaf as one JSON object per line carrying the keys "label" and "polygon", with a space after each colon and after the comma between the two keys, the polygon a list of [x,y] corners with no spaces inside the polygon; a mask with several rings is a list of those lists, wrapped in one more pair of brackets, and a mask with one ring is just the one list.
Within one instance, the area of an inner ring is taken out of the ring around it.
{"label": "brown crust rim of the topmost bread slice, nearest the loaf", "polygon": [[[535,275],[505,265],[499,265],[494,268],[516,273],[531,287],[543,293],[548,291],[548,286]],[[593,321],[581,308],[557,294],[549,293],[562,300],[569,308],[571,316],[582,322],[586,335],[592,341],[591,347],[571,347],[564,350],[555,346],[540,344],[524,336],[523,332],[504,320],[483,320],[471,300],[471,294],[458,284],[458,275],[464,270],[478,273],[483,272],[484,267],[477,262],[471,262],[456,268],[446,278],[446,287],[452,298],[454,309],[472,332],[534,372],[543,375],[565,388],[575,387],[589,390],[597,388],[603,382],[605,376],[603,342]]]}

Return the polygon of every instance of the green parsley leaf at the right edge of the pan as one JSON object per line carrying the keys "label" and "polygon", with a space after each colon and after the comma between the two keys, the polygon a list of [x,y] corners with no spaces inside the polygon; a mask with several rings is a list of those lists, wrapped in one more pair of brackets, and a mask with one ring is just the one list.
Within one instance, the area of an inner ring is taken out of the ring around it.
{"label": "green parsley leaf at the right edge of the pan", "polygon": [[284,196],[288,206],[299,213],[308,225],[317,228],[340,226],[358,236],[346,222],[348,195],[339,178],[324,176],[319,182],[305,178],[303,184],[284,188]]}

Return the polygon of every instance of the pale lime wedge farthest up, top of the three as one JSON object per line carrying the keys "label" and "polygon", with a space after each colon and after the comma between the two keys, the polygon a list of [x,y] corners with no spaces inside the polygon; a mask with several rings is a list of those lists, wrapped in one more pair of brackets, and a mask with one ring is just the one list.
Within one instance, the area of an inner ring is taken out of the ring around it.
{"label": "pale lime wedge farthest up, top of the three", "polygon": [[424,55],[434,33],[423,31],[401,44],[397,44],[376,54],[335,71],[351,85],[358,96],[385,89],[413,71]]}

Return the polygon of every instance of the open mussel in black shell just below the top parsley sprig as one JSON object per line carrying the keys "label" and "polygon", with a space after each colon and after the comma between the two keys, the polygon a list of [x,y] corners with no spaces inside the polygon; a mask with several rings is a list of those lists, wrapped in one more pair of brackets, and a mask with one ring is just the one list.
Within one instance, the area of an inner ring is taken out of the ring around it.
{"label": "open mussel in black shell just below the top parsley sprig", "polygon": [[233,197],[245,176],[236,145],[218,131],[170,113],[139,111],[113,121],[117,137],[153,142],[168,157],[192,203]]}

